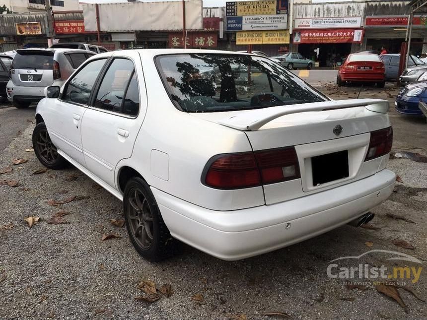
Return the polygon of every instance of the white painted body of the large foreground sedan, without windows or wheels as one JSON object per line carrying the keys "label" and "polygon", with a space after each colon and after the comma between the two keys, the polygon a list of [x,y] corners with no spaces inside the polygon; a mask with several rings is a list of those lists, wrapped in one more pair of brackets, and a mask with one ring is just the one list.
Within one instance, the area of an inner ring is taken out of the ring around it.
{"label": "white painted body of the large foreground sedan, without windows or wheels", "polygon": [[[97,55],[80,68],[103,57],[125,57],[134,63],[138,116],[45,98],[37,106],[36,123],[46,124],[60,155],[120,200],[126,183],[121,174],[129,168],[138,172],[150,186],[170,234],[225,260],[320,235],[389,197],[395,174],[386,169],[388,153],[365,161],[370,132],[390,127],[387,101],[330,100],[250,111],[183,112],[168,96],[154,59],[189,53],[230,54],[171,49]],[[342,128],[339,136],[333,132],[337,126]],[[295,146],[298,179],[233,190],[211,188],[202,181],[215,155],[285,146]],[[314,186],[312,157],[342,150],[348,150],[349,176]]]}

